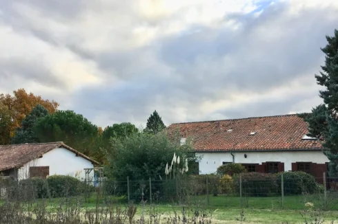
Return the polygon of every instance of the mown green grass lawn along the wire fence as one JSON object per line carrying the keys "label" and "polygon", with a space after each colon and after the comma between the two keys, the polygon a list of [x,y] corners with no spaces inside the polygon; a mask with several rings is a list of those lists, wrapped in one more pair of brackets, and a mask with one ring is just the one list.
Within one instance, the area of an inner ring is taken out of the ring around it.
{"label": "mown green grass lawn along the wire fence", "polygon": [[[312,202],[315,208],[321,206],[321,196],[286,196],[284,197],[284,207],[281,207],[281,197],[243,197],[242,208],[243,217],[245,221],[243,223],[305,223],[304,218],[301,216],[301,212],[304,210],[304,204],[306,202]],[[123,197],[108,197],[108,200],[115,202],[115,204],[121,207],[126,206],[126,199]],[[64,199],[48,199],[48,208],[53,209],[59,207],[61,201]],[[97,205],[104,206],[104,200],[99,199],[97,201],[97,194],[92,194],[87,203],[81,204],[82,208],[95,209]],[[338,224],[338,198],[329,201],[329,210],[322,213],[324,217],[324,223],[331,223],[335,221]],[[192,205],[186,208],[187,213],[193,213],[194,208],[206,209],[208,212],[212,212],[212,223],[241,223],[241,203],[239,197],[228,197],[219,195],[217,197],[209,196],[209,204],[207,205],[206,196],[195,197],[192,201]],[[1,202],[0,202],[1,204]],[[173,216],[175,212],[181,216],[182,206],[172,205],[170,203],[153,203],[152,206],[149,202],[142,208],[139,203],[137,205],[137,217],[141,215],[141,211],[144,208],[145,213],[149,214],[149,211],[156,208],[157,213],[161,214],[161,217]]]}

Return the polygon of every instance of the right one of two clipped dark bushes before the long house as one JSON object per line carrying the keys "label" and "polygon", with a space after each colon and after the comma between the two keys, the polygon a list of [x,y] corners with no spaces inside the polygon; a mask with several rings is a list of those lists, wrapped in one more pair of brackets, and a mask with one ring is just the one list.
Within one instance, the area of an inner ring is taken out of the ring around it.
{"label": "right one of two clipped dark bushes before the long house", "polygon": [[[281,189],[281,174],[277,173],[277,183]],[[320,190],[315,177],[303,171],[284,172],[284,194],[313,194]]]}

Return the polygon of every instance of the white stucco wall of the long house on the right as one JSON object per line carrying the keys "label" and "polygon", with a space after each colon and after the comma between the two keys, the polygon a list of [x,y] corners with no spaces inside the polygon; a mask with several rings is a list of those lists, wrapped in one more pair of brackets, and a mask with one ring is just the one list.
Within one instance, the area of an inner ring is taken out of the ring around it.
{"label": "white stucco wall of the long house on the right", "polygon": [[[235,156],[235,163],[239,164],[261,164],[266,161],[280,161],[284,163],[284,170],[291,171],[291,164],[295,162],[312,162],[325,164],[329,162],[328,157],[321,151],[285,151],[285,152],[232,152]],[[247,157],[244,157],[244,154]],[[217,168],[225,162],[232,162],[230,152],[196,153],[202,157],[199,161],[199,173],[209,174],[216,172]]]}

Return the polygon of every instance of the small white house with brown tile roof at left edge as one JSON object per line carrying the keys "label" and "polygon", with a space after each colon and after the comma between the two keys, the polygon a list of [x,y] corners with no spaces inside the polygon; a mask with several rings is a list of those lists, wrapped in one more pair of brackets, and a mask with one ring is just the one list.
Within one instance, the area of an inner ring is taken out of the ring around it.
{"label": "small white house with brown tile roof at left edge", "polygon": [[[70,175],[85,179],[83,169],[99,163],[63,142],[0,146],[0,173],[14,180],[49,175]],[[94,177],[90,173],[90,178]]]}

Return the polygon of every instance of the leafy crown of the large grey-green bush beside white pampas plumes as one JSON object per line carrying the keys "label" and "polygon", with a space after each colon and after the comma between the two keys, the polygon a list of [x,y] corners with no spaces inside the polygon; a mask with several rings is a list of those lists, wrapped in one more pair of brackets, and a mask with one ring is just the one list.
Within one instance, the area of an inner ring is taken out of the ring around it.
{"label": "leafy crown of the large grey-green bush beside white pampas plumes", "polygon": [[166,133],[133,134],[112,144],[117,152],[110,157],[108,173],[121,181],[126,181],[127,177],[135,180],[166,177],[166,164],[170,166],[174,153],[181,161],[184,158],[195,161],[190,144],[181,146],[179,139],[170,141]]}

